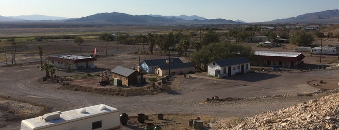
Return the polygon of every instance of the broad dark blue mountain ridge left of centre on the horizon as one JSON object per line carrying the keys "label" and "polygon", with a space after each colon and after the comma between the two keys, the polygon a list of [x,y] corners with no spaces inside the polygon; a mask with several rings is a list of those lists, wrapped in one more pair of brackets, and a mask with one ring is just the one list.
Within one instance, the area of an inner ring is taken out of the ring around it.
{"label": "broad dark blue mountain ridge left of centre on the horizon", "polygon": [[100,13],[91,16],[81,17],[74,20],[66,20],[65,22],[81,22],[81,23],[110,23],[110,24],[229,24],[240,23],[226,19],[193,19],[185,20],[183,18],[176,17],[162,17],[162,16],[148,16],[148,15],[129,15],[125,13]]}

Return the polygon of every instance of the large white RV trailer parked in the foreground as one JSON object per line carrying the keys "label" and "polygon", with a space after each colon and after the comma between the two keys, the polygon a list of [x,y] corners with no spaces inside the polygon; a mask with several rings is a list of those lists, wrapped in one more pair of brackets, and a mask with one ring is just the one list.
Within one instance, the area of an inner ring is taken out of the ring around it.
{"label": "large white RV trailer parked in the foreground", "polygon": [[21,121],[20,130],[118,130],[116,108],[99,104],[65,112],[53,112]]}

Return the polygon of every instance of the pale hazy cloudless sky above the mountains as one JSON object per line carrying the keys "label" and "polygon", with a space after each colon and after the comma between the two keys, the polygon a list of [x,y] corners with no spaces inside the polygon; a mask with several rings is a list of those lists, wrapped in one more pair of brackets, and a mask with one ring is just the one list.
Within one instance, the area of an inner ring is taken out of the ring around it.
{"label": "pale hazy cloudless sky above the mountains", "polygon": [[263,22],[339,9],[339,0],[0,0],[0,16],[197,15]]}

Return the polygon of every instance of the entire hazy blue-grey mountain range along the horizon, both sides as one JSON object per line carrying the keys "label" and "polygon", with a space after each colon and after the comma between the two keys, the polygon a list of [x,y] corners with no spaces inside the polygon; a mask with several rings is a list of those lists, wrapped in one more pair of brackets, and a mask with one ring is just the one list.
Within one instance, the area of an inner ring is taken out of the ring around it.
{"label": "entire hazy blue-grey mountain range along the horizon, both sides", "polygon": [[[58,22],[58,23],[86,23],[86,24],[134,24],[134,25],[178,25],[178,24],[240,24],[242,20],[207,19],[201,16],[161,16],[161,15],[129,15],[125,13],[98,13],[81,18],[67,18],[56,16],[0,16],[0,22]],[[285,19],[275,19],[260,23],[339,23],[339,10],[326,10],[308,13]]]}

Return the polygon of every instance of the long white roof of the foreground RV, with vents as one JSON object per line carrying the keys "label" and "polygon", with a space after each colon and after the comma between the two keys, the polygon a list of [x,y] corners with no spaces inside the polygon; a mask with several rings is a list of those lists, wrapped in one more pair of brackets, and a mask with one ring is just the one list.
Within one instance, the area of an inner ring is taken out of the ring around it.
{"label": "long white roof of the foreground RV, with vents", "polygon": [[[98,116],[105,113],[113,113],[118,112],[116,108],[107,106],[105,104],[99,104],[95,106],[85,107],[81,109],[75,109],[65,112],[54,112],[50,114],[59,114],[58,118],[52,118],[52,119],[45,119],[44,116],[39,116],[31,119],[22,120],[23,123],[25,123],[28,127],[30,127],[32,130],[34,128],[47,128],[50,126],[56,126],[65,124],[69,121],[76,121],[81,120],[84,118],[90,118],[92,116]],[[49,115],[50,115],[49,114]],[[48,114],[46,114],[48,115]]]}

